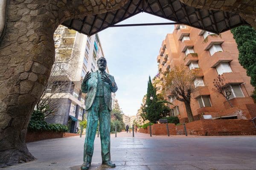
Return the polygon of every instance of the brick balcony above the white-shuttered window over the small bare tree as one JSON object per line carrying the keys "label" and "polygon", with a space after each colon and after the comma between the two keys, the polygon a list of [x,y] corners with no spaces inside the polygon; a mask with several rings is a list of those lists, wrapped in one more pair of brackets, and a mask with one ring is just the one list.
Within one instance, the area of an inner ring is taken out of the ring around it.
{"label": "brick balcony above the white-shuttered window over the small bare tree", "polygon": [[220,62],[230,62],[232,61],[233,58],[230,56],[230,53],[228,51],[224,51],[224,52],[215,52],[210,60],[210,66],[216,67],[216,65],[218,65]]}

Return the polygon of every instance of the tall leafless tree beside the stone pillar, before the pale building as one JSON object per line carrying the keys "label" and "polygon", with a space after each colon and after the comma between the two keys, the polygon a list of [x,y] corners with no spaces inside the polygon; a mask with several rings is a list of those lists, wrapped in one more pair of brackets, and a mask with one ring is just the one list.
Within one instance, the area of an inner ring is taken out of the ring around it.
{"label": "tall leafless tree beside the stone pillar, before the pale building", "polygon": [[70,36],[68,29],[63,26],[59,26],[55,31],[55,62],[44,92],[36,104],[45,117],[54,116],[61,107],[60,99],[72,90],[70,78],[73,77],[73,68],[78,64],[79,57],[74,36]]}

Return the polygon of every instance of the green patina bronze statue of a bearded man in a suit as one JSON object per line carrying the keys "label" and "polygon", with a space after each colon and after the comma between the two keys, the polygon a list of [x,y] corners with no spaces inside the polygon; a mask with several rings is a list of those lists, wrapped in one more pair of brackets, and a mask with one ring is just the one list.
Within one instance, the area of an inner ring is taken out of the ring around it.
{"label": "green patina bronze statue of a bearded man in a suit", "polygon": [[84,142],[84,163],[81,170],[88,170],[93,156],[93,143],[99,120],[99,132],[102,147],[102,164],[108,167],[116,165],[110,161],[110,120],[111,120],[111,92],[117,91],[114,77],[105,72],[107,61],[101,57],[97,61],[99,70],[84,77],[81,85],[83,93],[87,93],[87,129]]}

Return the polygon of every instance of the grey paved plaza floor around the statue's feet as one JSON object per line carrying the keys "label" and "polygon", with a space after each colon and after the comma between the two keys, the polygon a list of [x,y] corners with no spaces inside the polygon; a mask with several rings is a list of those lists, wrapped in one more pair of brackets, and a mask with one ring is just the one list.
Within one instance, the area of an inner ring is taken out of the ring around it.
{"label": "grey paved plaza floor around the statue's feet", "polygon": [[[79,170],[84,137],[27,144],[37,158],[3,170]],[[115,168],[101,166],[100,139],[95,138],[90,170],[256,170],[256,136],[111,135]]]}

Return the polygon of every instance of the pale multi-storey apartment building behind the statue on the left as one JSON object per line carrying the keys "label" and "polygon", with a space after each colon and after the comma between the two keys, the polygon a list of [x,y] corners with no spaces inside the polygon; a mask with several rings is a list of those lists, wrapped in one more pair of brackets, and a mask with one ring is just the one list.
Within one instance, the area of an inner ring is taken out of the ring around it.
{"label": "pale multi-storey apartment building behind the statue on the left", "polygon": [[[68,125],[70,132],[74,133],[76,127],[80,128],[79,121],[86,119],[85,98],[81,92],[81,82],[87,73],[98,69],[97,59],[104,57],[102,45],[97,34],[87,37],[77,31],[59,26],[55,31],[55,58],[57,67],[64,68],[62,75],[58,75],[58,83],[67,83],[67,88],[60,90],[53,97],[58,100],[60,107],[53,116],[46,121]],[[59,62],[59,63],[58,63]],[[108,71],[108,68],[106,69]],[[51,94],[53,87],[47,89]],[[52,92],[53,93],[53,92]],[[115,94],[112,94],[115,100]]]}

